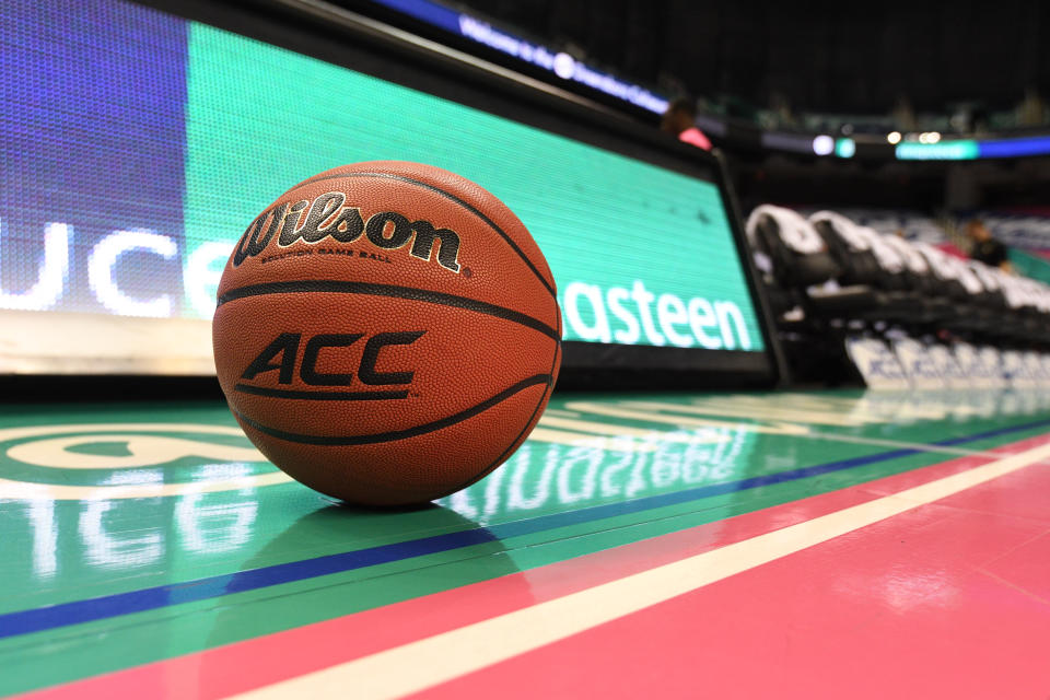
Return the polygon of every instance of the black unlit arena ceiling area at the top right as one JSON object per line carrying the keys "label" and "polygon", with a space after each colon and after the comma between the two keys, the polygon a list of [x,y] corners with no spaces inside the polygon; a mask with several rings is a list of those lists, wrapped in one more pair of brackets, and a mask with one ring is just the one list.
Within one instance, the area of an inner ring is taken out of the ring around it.
{"label": "black unlit arena ceiling area at the top right", "polygon": [[[736,0],[467,0],[463,8],[674,91],[768,108],[885,114],[1050,93],[1050,7]],[[745,116],[745,115],[740,115]]]}

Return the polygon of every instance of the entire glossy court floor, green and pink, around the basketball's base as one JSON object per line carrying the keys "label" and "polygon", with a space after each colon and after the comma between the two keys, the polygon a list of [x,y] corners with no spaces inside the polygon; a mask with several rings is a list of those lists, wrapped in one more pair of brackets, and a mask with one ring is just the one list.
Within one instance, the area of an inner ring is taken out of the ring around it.
{"label": "entire glossy court floor, green and pink, around the basketball's base", "polygon": [[0,696],[1047,698],[1050,398],[558,395],[410,511],[0,407]]}

